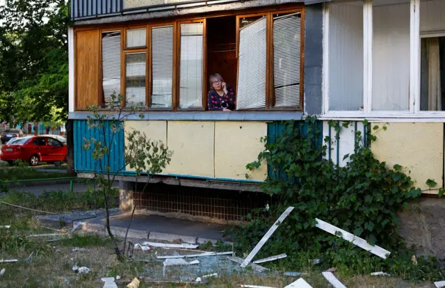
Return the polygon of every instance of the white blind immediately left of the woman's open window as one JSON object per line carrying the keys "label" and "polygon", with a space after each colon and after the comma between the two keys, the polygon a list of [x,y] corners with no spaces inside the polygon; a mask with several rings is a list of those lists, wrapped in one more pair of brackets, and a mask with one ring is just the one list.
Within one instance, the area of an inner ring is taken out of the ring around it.
{"label": "white blind immediately left of the woman's open window", "polygon": [[181,24],[179,107],[202,107],[202,23]]}

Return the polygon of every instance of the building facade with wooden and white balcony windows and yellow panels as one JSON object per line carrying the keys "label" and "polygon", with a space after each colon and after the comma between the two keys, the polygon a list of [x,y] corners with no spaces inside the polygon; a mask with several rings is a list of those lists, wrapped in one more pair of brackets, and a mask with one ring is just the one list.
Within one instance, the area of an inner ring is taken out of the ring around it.
{"label": "building facade with wooden and white balcony windows and yellow panels", "polygon": [[[72,19],[70,119],[79,176],[97,170],[82,148],[98,133],[88,128],[87,107],[107,111],[113,93],[144,118],[129,115],[111,141],[112,170],[124,165],[131,129],[174,153],[152,178],[168,188],[137,192],[134,171],[120,172],[122,210],[136,203],[163,214],[240,220],[268,201],[258,186],[267,166],[245,168],[264,150],[260,139],[305,115],[316,115],[331,136],[334,163],[346,165],[355,131],[385,125],[375,132],[375,156],[409,170],[424,193],[444,186],[445,0],[73,0]],[[209,111],[215,73],[236,91],[234,111]],[[342,127],[337,137],[332,121]]]}

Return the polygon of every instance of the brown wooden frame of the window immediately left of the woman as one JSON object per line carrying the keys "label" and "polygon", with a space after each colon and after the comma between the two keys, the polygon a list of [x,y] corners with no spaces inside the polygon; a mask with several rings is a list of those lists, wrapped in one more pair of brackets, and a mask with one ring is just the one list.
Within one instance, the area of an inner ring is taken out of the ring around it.
{"label": "brown wooden frame of the window immediately left of the woman", "polygon": [[[180,106],[180,97],[179,95],[179,82],[181,81],[181,24],[191,24],[191,23],[202,23],[202,106],[201,108],[193,107],[193,108],[179,108]],[[176,35],[175,33],[174,38],[176,42],[176,74],[177,77],[175,79],[175,87],[174,90],[176,90],[175,93],[175,107],[173,111],[206,111],[207,109],[207,93],[205,91],[206,89],[206,76],[207,76],[207,22],[206,18],[200,18],[200,19],[189,19],[184,21],[178,21],[176,22]],[[175,57],[174,57],[175,58]]]}

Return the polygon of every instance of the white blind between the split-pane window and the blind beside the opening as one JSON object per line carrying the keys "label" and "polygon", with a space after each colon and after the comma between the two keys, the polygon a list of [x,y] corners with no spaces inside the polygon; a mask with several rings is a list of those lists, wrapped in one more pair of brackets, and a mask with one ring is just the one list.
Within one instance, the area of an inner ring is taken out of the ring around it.
{"label": "white blind between the split-pane window and the blind beside the opening", "polygon": [[172,106],[173,26],[152,28],[152,107]]}

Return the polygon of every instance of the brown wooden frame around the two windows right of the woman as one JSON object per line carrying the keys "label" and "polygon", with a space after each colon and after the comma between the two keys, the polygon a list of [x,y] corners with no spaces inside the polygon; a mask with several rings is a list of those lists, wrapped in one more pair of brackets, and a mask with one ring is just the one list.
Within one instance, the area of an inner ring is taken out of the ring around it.
{"label": "brown wooden frame around the two windows right of the woman", "polygon": [[[236,70],[236,102],[238,102],[238,74],[239,74],[239,38],[241,29],[241,19],[248,17],[266,17],[266,106],[262,109],[246,109],[245,111],[303,111],[304,104],[304,67],[305,67],[305,13],[304,8],[293,8],[286,10],[273,10],[269,12],[259,12],[236,15],[236,59],[238,67]],[[273,88],[273,15],[284,15],[300,13],[300,107],[274,107],[275,92]]]}

